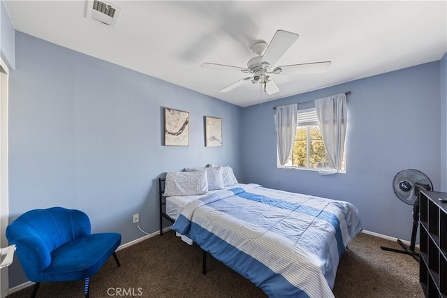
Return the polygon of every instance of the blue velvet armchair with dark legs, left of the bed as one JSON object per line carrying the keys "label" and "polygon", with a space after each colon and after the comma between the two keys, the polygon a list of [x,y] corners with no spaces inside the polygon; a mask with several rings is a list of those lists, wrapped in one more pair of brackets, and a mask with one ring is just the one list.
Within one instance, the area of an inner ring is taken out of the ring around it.
{"label": "blue velvet armchair with dark legs, left of the bed", "polygon": [[31,297],[42,282],[78,280],[85,281],[89,297],[89,278],[110,255],[121,267],[115,253],[121,234],[91,234],[90,228],[87,214],[62,207],[27,211],[8,225],[6,238],[15,244],[27,278],[35,282]]}

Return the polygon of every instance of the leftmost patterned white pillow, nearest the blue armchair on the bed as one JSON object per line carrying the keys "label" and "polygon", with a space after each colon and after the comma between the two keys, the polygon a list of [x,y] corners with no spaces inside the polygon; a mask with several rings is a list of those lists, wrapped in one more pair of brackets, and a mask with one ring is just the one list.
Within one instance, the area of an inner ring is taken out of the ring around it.
{"label": "leftmost patterned white pillow, nearest the blue armchair on the bed", "polygon": [[165,197],[174,195],[203,195],[208,192],[205,172],[168,172],[165,181]]}

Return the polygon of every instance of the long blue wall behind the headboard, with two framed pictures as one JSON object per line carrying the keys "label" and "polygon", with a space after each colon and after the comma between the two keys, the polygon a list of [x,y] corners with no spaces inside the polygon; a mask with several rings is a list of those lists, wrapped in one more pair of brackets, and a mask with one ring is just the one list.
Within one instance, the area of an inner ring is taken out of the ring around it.
{"label": "long blue wall behind the headboard, with two framed pictures", "polygon": [[[242,107],[17,32],[10,72],[10,221],[29,209],[82,209],[122,244],[159,230],[163,172],[231,165],[242,177]],[[189,112],[189,147],[163,146],[163,107]],[[223,122],[205,147],[203,117]],[[19,262],[10,285],[26,281]]]}

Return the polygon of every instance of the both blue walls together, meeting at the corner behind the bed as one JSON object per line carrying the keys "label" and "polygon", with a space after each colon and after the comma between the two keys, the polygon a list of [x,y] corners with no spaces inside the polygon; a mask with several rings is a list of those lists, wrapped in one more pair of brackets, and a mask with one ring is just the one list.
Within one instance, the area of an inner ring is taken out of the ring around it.
{"label": "both blue walls together, meeting at the corner behind the bed", "polygon": [[[446,56],[242,109],[24,33],[15,48],[10,40],[10,221],[33,208],[77,208],[94,232],[120,232],[126,243],[144,235],[134,213],[143,229],[159,229],[163,172],[216,163],[242,182],[348,200],[366,230],[409,239],[411,206],[393,193],[394,175],[416,168],[435,190],[446,184]],[[272,107],[347,90],[346,174],[277,169]],[[163,107],[190,113],[189,147],[163,146]],[[204,147],[204,116],[223,119],[223,147]],[[25,281],[15,262],[10,286]]]}

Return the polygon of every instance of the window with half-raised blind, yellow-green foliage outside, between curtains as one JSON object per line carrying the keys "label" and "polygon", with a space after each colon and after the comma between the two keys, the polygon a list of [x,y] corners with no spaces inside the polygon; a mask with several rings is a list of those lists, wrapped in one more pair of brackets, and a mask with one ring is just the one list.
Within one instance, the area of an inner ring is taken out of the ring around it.
{"label": "window with half-raised blind, yellow-green foliage outside, between curtains", "polygon": [[[299,110],[293,151],[284,167],[323,170],[328,165],[330,163],[321,139],[315,108]],[[344,157],[342,172],[344,172]]]}

